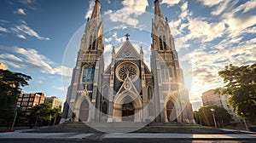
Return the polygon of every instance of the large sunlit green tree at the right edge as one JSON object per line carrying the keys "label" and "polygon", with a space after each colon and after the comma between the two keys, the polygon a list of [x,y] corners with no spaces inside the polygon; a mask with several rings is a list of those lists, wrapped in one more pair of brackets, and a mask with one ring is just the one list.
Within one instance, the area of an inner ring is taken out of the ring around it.
{"label": "large sunlit green tree at the right edge", "polygon": [[256,121],[256,63],[251,66],[225,66],[218,72],[224,78],[226,85],[221,94],[230,94],[230,106],[236,109],[236,114],[248,120]]}

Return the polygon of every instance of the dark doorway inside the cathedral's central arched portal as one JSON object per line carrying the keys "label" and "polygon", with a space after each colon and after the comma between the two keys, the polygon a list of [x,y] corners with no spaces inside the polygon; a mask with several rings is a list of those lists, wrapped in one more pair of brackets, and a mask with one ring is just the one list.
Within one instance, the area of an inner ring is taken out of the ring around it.
{"label": "dark doorway inside the cathedral's central arched portal", "polygon": [[132,102],[123,104],[122,106],[122,121],[133,122],[134,108]]}

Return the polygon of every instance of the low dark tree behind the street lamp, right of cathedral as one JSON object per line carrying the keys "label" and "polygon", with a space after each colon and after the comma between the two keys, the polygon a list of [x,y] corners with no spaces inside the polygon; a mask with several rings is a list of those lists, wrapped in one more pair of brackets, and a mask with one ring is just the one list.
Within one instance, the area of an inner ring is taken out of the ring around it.
{"label": "low dark tree behind the street lamp, right of cathedral", "polygon": [[202,106],[198,112],[195,112],[197,120],[205,126],[214,126],[214,120],[211,109],[214,109],[214,115],[218,127],[223,127],[230,124],[231,116],[224,109],[224,107],[219,106]]}

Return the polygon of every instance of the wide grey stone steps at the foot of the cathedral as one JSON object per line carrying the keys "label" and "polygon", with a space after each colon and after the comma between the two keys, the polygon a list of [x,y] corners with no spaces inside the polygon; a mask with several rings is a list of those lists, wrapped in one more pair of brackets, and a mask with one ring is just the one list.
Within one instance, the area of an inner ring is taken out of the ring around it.
{"label": "wide grey stone steps at the foot of the cathedral", "polygon": [[71,123],[28,131],[30,133],[176,133],[176,134],[234,134],[197,124],[181,123]]}

